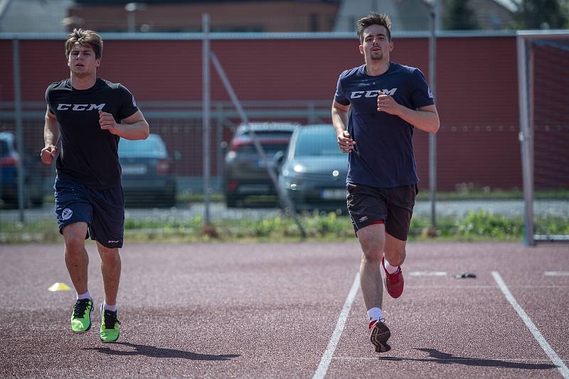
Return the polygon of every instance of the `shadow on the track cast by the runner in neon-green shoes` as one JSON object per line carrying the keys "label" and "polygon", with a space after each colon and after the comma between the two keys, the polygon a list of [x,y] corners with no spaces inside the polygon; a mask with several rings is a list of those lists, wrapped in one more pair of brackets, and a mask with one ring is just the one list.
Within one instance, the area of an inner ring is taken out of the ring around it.
{"label": "shadow on the track cast by the runner in neon-green shoes", "polygon": [[[134,351],[116,350],[111,346],[127,346],[134,348]],[[100,346],[98,348],[83,348],[82,350],[96,350],[99,353],[110,356],[147,356],[151,358],[184,358],[192,361],[228,361],[237,358],[238,354],[200,354],[191,351],[175,350],[172,348],[157,348],[156,346],[137,345],[129,342],[115,342],[112,345]]]}

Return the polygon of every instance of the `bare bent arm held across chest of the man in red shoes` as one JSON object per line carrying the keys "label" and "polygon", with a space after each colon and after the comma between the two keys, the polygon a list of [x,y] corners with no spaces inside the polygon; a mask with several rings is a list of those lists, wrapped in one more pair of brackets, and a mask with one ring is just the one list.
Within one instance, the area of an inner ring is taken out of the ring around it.
{"label": "bare bent arm held across chest of the man in red shoes", "polygon": [[408,107],[398,104],[390,95],[379,92],[378,112],[386,112],[399,116],[414,127],[425,132],[436,133],[440,127],[439,114],[435,105],[420,107],[418,110],[411,110]]}

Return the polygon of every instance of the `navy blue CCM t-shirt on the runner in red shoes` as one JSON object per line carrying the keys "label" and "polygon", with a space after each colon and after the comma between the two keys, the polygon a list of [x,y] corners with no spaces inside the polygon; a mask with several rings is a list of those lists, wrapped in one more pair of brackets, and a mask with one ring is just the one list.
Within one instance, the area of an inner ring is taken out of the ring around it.
{"label": "navy blue CCM t-shirt on the runner in red shoes", "polygon": [[378,91],[417,110],[433,105],[421,70],[389,63],[377,76],[361,65],[341,73],[334,99],[351,105],[348,132],[356,142],[349,154],[346,181],[378,188],[408,186],[419,181],[413,155],[413,125],[393,114],[378,112]]}

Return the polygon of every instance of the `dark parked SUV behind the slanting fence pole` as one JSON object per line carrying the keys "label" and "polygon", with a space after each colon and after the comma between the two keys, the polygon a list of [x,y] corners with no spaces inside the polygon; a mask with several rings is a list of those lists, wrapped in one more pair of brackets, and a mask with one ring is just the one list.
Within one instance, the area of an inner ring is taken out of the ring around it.
{"label": "dark parked SUV behind the slanting fence pole", "polygon": [[243,205],[248,196],[277,195],[261,156],[257,153],[251,131],[259,139],[267,161],[276,168],[275,154],[287,150],[296,123],[252,122],[241,124],[225,153],[223,191],[228,208]]}

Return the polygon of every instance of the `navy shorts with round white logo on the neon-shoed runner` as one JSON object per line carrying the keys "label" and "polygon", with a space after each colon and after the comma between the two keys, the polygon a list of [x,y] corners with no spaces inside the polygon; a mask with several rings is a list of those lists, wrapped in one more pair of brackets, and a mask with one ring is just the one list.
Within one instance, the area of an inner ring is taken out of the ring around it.
{"label": "navy shorts with round white logo on the neon-shoed runner", "polygon": [[104,190],[87,188],[69,178],[55,178],[55,217],[59,233],[73,223],[87,223],[89,236],[109,248],[122,247],[124,193],[122,186]]}

